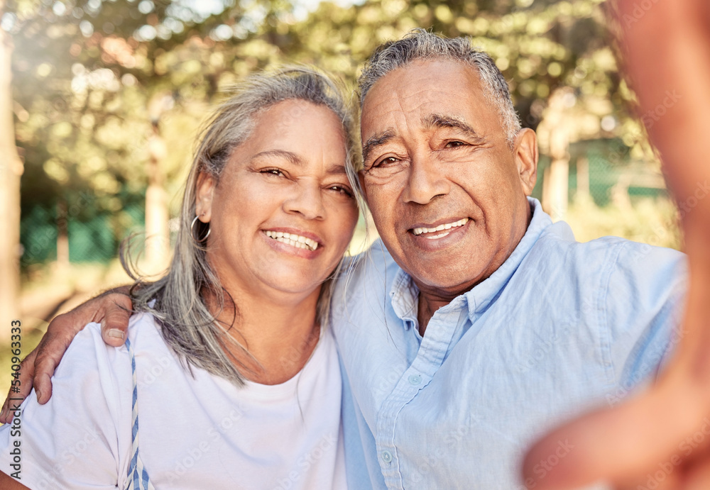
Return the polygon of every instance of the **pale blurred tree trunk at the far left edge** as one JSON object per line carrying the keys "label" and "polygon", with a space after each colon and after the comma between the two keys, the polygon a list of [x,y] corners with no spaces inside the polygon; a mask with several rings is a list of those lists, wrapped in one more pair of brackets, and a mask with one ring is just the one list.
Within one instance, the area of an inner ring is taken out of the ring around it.
{"label": "pale blurred tree trunk at the far left edge", "polygon": [[[0,0],[0,14],[5,2]],[[20,320],[20,176],[23,163],[15,145],[12,115],[12,39],[0,29],[0,342],[10,340],[11,322]]]}

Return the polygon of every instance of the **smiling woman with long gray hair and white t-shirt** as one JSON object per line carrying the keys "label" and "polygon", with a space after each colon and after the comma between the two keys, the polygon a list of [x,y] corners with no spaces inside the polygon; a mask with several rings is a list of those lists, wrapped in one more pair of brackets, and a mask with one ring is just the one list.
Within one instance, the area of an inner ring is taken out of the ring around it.
{"label": "smiling woman with long gray hair and white t-shirt", "polygon": [[49,403],[28,397],[21,435],[0,428],[0,487],[345,486],[342,381],[317,308],[358,214],[351,123],[309,69],[253,77],[219,108],[168,274],[136,282],[124,347],[87,325]]}

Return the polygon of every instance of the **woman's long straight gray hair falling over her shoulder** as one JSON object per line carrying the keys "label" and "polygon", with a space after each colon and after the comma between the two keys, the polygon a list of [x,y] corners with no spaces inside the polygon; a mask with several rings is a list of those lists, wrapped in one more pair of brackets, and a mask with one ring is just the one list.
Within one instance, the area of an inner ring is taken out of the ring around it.
{"label": "woman's long straight gray hair falling over her shoulder", "polygon": [[[230,353],[229,347],[237,347],[249,355],[235,335],[228,333],[239,326],[239,308],[222,289],[219,277],[207,261],[204,247],[207,224],[198,220],[195,229],[191,228],[196,216],[197,178],[206,173],[219,181],[234,148],[249,138],[258,115],[274,104],[290,99],[326,106],[337,115],[342,122],[346,143],[345,165],[349,175],[354,176],[359,141],[356,143],[354,139],[354,120],[343,93],[343,88],[327,75],[306,67],[285,67],[256,74],[236,85],[231,90],[231,97],[217,108],[204,126],[185,184],[180,228],[168,273],[158,281],[143,282],[130,260],[129,246],[127,243],[122,245],[121,262],[136,281],[131,289],[134,310],[153,313],[165,342],[187,369],[190,365],[200,367],[237,385],[244,384],[243,372],[249,370]],[[291,117],[297,118],[298,114],[293,113]],[[329,282],[322,286],[318,303],[322,323],[327,318],[330,302]],[[215,299],[220,311],[224,308],[233,310],[231,325],[216,320],[207,306],[206,297]]]}

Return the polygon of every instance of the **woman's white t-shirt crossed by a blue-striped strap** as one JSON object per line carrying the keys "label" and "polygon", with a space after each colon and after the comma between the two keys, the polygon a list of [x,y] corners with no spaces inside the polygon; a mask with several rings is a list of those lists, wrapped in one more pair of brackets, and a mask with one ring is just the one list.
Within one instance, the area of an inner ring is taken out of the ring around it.
{"label": "woman's white t-shirt crossed by a blue-striped strap", "polygon": [[[322,333],[295,377],[238,388],[192,367],[165,345],[153,316],[131,317],[139,451],[156,489],[344,489],[342,380],[334,339]],[[0,428],[1,471],[21,441],[31,489],[125,488],[131,460],[131,359],[90,323],[53,377],[50,401],[23,403],[19,437]]]}

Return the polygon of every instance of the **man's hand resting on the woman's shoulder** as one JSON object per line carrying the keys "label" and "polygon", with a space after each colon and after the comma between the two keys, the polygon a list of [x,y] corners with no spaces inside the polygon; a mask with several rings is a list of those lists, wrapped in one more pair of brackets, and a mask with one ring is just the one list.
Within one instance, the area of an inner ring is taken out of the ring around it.
{"label": "man's hand resting on the woman's shoulder", "polygon": [[128,291],[129,286],[112,289],[51,321],[39,345],[21,364],[21,391],[6,396],[0,411],[1,423],[12,421],[9,399],[26,398],[33,386],[37,401],[47,403],[52,396],[52,375],[72,340],[87,323],[101,323],[102,338],[108,345],[124,345],[133,307]]}

